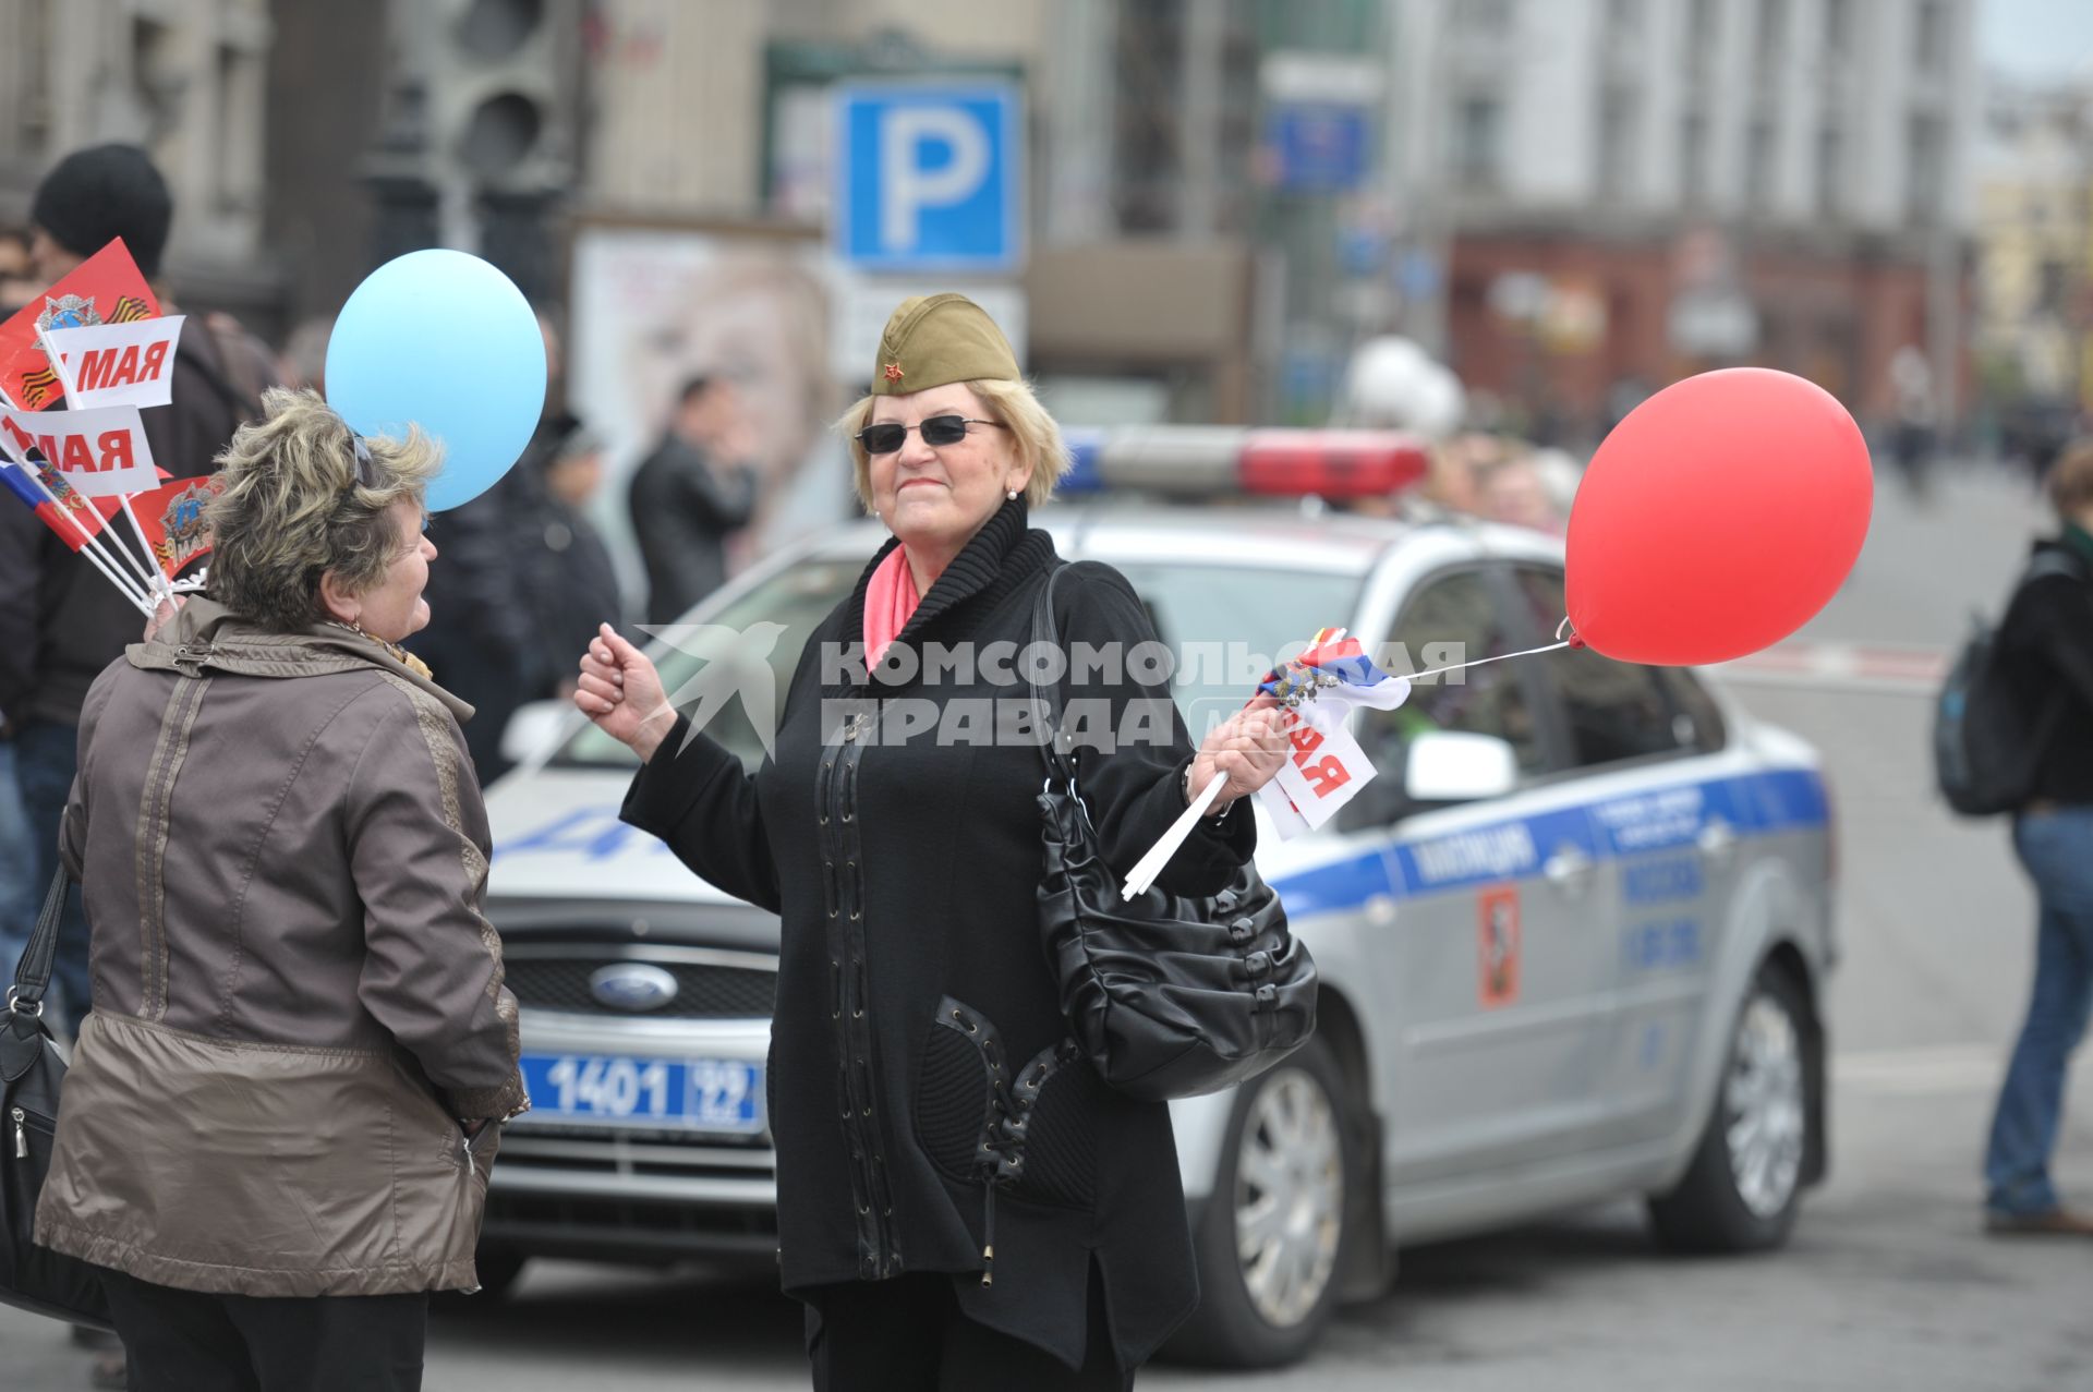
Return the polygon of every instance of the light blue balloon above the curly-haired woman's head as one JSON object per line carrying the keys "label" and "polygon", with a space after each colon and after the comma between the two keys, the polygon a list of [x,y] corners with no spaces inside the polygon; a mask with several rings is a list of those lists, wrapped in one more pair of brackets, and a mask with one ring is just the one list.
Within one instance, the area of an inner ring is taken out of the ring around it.
{"label": "light blue balloon above the curly-haired woman's head", "polygon": [[362,435],[444,446],[427,509],[471,502],[544,410],[544,337],[523,291],[465,251],[410,251],[356,287],[327,339],[327,400]]}

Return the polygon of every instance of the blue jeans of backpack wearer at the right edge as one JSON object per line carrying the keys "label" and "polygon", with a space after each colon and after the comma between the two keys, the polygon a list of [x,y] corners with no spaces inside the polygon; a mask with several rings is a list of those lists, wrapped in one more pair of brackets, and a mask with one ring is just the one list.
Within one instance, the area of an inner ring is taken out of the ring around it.
{"label": "blue jeans of backpack wearer at the right edge", "polygon": [[2093,1007],[2093,806],[2020,816],[2013,850],[2041,904],[2034,996],[1990,1122],[1984,1204],[2034,1214],[2057,1206],[2049,1155],[2064,1114],[2064,1072]]}

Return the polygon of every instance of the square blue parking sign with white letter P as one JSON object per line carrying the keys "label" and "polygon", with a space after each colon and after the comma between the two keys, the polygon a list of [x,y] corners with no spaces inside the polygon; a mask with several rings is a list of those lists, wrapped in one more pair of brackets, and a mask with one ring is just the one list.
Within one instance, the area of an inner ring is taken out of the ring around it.
{"label": "square blue parking sign with white letter P", "polygon": [[1023,121],[1007,82],[837,88],[835,249],[860,270],[1015,272]]}

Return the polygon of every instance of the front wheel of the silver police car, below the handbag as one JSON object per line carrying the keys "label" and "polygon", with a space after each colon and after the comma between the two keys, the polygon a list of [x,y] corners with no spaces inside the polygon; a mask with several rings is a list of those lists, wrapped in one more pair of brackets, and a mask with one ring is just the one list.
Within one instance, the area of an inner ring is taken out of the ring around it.
{"label": "front wheel of the silver police car, below the handbag", "polygon": [[1193,1250],[1199,1308],[1168,1356],[1206,1367],[1281,1367],[1329,1323],[1360,1172],[1346,1147],[1356,1101],[1329,1047],[1310,1038],[1243,1084]]}

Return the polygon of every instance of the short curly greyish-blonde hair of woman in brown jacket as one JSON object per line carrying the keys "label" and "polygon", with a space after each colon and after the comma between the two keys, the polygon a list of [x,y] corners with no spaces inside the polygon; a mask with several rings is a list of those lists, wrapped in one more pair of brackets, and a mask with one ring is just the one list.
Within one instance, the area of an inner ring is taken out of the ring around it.
{"label": "short curly greyish-blonde hair of woman in brown jacket", "polygon": [[224,492],[205,511],[209,594],[241,618],[297,632],[327,618],[320,576],[362,594],[400,555],[396,502],[421,504],[442,452],[419,429],[364,440],[373,481],[356,477],[356,431],[314,391],[272,387],[218,456]]}

